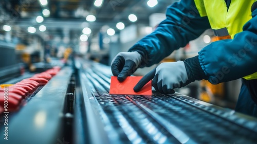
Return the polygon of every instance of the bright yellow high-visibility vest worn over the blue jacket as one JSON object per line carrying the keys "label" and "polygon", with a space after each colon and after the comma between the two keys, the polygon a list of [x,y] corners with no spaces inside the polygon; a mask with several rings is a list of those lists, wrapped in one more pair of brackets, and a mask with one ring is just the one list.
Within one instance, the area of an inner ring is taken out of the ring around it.
{"label": "bright yellow high-visibility vest worn over the blue jacket", "polygon": [[[236,33],[243,31],[245,23],[252,19],[251,7],[256,1],[231,0],[228,9],[224,0],[194,0],[200,16],[208,16],[214,34],[225,39],[233,39]],[[257,79],[257,72],[244,79]]]}

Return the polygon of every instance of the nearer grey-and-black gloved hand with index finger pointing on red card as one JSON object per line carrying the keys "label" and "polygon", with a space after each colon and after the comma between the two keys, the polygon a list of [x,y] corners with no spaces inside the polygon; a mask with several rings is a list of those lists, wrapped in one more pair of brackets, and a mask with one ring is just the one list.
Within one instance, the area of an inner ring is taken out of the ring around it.
{"label": "nearer grey-and-black gloved hand with index finger pointing on red card", "polygon": [[152,80],[156,91],[164,94],[175,93],[174,88],[180,88],[190,83],[183,61],[161,63],[155,69],[146,74],[134,87],[135,92]]}

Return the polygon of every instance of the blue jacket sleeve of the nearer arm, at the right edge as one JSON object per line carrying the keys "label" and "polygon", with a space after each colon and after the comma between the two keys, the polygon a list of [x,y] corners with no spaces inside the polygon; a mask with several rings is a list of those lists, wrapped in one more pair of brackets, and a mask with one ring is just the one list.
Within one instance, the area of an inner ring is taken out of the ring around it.
{"label": "blue jacket sleeve of the nearer arm, at the right edge", "polygon": [[217,84],[242,78],[257,71],[257,8],[243,31],[233,40],[213,42],[203,48],[198,59],[207,79]]}

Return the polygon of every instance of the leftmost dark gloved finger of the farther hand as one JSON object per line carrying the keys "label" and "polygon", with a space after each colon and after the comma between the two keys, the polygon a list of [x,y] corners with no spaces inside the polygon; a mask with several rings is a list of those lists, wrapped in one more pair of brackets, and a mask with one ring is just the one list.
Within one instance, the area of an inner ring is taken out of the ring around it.
{"label": "leftmost dark gloved finger of the farther hand", "polygon": [[125,60],[123,57],[121,56],[116,57],[116,59],[113,61],[111,65],[112,73],[114,76],[118,76],[120,74],[120,71],[122,70],[124,64],[125,64]]}

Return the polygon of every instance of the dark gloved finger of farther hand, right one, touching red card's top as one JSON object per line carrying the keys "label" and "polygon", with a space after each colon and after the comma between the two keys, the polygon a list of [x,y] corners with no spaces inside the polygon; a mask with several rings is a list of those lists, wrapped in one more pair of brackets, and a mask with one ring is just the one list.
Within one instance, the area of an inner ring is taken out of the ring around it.
{"label": "dark gloved finger of farther hand, right one, touching red card's top", "polygon": [[137,69],[136,63],[132,60],[126,60],[125,65],[118,75],[119,81],[124,81],[128,76],[132,75]]}

